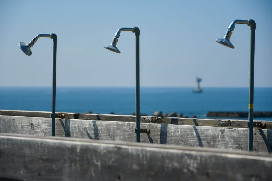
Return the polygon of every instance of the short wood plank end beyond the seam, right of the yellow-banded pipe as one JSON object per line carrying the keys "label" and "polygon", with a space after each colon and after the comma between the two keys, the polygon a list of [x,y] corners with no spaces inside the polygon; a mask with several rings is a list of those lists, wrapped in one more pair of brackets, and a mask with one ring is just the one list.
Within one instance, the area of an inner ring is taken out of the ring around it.
{"label": "short wood plank end beyond the seam, right of the yellow-banded pipe", "polygon": [[260,153],[272,152],[272,130],[259,129],[258,130],[258,149]]}

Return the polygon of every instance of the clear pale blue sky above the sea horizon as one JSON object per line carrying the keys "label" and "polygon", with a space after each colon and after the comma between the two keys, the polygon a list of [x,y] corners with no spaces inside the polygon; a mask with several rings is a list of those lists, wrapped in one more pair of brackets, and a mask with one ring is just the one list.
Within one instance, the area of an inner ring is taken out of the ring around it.
{"label": "clear pale blue sky above the sea horizon", "polygon": [[140,85],[247,87],[250,28],[237,24],[234,49],[215,38],[234,19],[256,21],[255,86],[272,87],[272,1],[0,1],[0,86],[51,86],[56,33],[57,86],[134,86],[135,36],[122,32],[120,54],[103,48],[120,27],[138,26]]}

